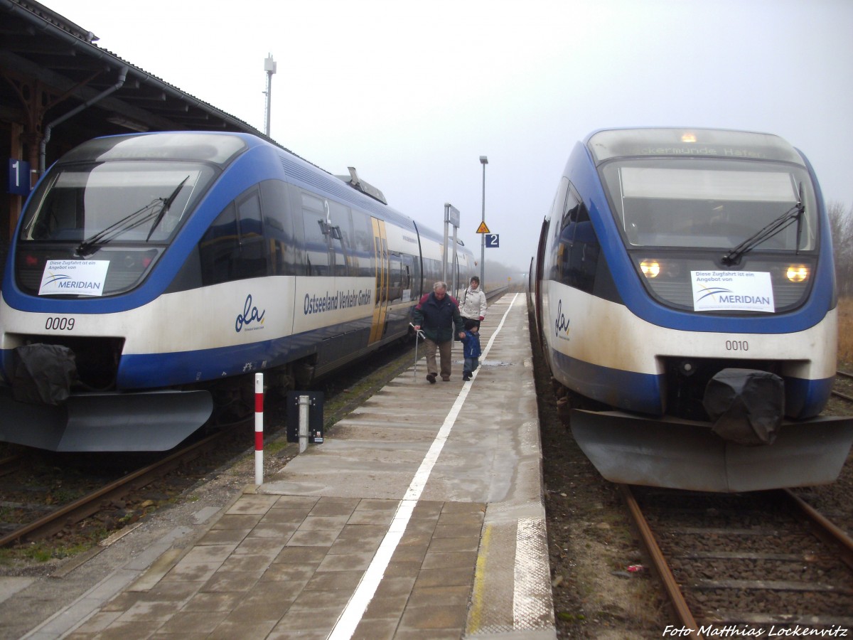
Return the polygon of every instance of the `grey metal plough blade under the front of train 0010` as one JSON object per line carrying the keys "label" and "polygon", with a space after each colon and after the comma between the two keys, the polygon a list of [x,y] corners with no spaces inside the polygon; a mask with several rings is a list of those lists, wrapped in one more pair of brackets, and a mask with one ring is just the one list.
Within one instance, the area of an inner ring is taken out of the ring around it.
{"label": "grey metal plough blade under the front of train 0010", "polygon": [[751,492],[833,482],[853,444],[853,417],[782,421],[769,445],[722,439],[710,422],[574,409],[577,445],[612,482]]}

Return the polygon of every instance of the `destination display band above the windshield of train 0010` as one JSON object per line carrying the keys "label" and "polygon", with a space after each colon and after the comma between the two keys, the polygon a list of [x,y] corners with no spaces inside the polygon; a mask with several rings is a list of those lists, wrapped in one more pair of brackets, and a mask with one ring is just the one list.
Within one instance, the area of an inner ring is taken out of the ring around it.
{"label": "destination display band above the windshield of train 0010", "polygon": [[689,156],[740,160],[777,160],[805,166],[797,149],[779,136],[755,131],[702,127],[602,129],[584,144],[595,165],[620,157]]}

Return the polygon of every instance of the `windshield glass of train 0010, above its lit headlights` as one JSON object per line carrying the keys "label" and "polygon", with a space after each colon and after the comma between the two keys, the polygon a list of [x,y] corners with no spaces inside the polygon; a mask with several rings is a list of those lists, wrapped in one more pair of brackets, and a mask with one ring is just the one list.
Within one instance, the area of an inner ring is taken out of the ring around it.
{"label": "windshield glass of train 0010, above its lit headlights", "polygon": [[815,195],[798,166],[657,158],[614,160],[601,171],[630,247],[731,250],[793,211],[754,249],[815,249]]}

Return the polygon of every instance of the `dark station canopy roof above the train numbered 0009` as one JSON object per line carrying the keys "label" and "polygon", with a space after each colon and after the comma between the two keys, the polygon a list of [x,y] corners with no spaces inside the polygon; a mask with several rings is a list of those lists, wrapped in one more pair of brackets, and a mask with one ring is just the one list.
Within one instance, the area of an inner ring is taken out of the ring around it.
{"label": "dark station canopy roof above the train numbered 0009", "polygon": [[[0,0],[0,121],[23,125],[32,141],[52,122],[96,100],[65,126],[57,125],[54,149],[48,148],[53,159],[92,137],[129,131],[242,131],[263,137],[241,119],[102,49],[97,39],[43,4]],[[124,83],[97,99],[123,73]]]}

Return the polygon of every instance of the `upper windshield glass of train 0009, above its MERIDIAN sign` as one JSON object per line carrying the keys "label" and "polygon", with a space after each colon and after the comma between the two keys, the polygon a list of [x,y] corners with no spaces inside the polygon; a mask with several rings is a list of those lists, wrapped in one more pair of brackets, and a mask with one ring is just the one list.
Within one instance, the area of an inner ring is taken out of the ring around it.
{"label": "upper windshield glass of train 0009, above its MERIDIAN sign", "polygon": [[213,174],[157,160],[61,167],[34,195],[20,241],[77,242],[80,255],[113,241],[167,243]]}

